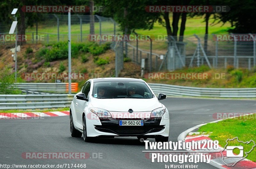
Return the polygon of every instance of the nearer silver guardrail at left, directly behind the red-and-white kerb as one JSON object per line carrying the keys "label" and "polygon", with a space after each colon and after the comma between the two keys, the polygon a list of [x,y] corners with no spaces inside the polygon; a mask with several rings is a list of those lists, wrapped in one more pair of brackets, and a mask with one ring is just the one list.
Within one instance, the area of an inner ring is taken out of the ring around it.
{"label": "nearer silver guardrail at left, directly behind the red-and-white kerb", "polygon": [[69,107],[74,95],[0,95],[0,109],[44,109]]}

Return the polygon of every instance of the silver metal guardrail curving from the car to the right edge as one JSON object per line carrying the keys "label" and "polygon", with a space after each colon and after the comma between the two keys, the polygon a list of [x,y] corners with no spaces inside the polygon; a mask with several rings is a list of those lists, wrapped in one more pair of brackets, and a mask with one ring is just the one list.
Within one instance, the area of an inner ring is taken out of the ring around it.
{"label": "silver metal guardrail curving from the car to the right edge", "polygon": [[256,88],[196,88],[159,83],[148,83],[155,94],[164,93],[170,96],[199,97],[256,97]]}

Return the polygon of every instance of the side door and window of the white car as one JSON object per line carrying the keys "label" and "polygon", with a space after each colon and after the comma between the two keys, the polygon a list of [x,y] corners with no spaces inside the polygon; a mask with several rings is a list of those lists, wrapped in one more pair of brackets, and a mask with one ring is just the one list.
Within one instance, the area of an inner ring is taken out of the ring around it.
{"label": "side door and window of the white car", "polygon": [[[91,82],[88,81],[86,82],[86,84],[84,85],[84,88],[82,90],[82,93],[85,94],[86,98],[89,98],[89,93],[90,93],[90,88],[91,88]],[[88,104],[88,102],[84,101],[84,100],[78,100],[76,99],[76,107],[77,107],[77,121],[79,124],[83,125],[83,112],[84,112],[84,108],[85,106]]]}

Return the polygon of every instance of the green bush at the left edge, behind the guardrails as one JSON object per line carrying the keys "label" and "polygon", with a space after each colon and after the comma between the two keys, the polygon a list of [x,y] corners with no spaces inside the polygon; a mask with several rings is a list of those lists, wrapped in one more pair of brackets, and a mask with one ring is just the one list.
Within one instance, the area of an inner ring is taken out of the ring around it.
{"label": "green bush at the left edge, behind the guardrails", "polygon": [[21,90],[14,85],[15,74],[11,73],[11,70],[5,68],[0,77],[0,94],[2,95],[18,95],[21,94]]}

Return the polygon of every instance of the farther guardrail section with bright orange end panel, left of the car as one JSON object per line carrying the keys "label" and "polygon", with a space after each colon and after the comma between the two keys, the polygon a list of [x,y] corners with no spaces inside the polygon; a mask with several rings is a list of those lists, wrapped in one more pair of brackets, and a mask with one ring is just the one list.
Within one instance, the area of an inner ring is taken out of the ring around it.
{"label": "farther guardrail section with bright orange end panel, left of the car", "polygon": [[[68,83],[15,83],[15,85],[24,90],[44,91],[54,93],[68,92]],[[71,83],[71,91],[77,92],[78,83]]]}

